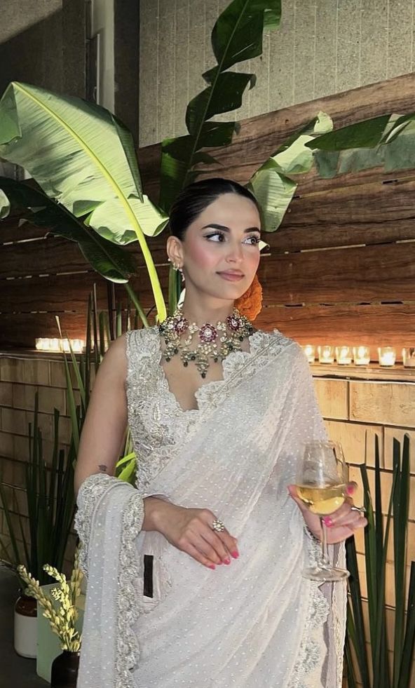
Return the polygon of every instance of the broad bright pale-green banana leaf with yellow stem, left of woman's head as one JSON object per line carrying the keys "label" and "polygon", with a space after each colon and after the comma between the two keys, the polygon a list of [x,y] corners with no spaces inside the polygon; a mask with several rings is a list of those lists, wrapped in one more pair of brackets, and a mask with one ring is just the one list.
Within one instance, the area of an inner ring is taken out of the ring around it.
{"label": "broad bright pale-green banana leaf with yellow stem, left of woman's head", "polygon": [[0,157],[21,165],[43,191],[115,243],[138,239],[158,318],[165,302],[144,234],[167,216],[142,193],[132,136],[106,109],[11,83],[0,100]]}

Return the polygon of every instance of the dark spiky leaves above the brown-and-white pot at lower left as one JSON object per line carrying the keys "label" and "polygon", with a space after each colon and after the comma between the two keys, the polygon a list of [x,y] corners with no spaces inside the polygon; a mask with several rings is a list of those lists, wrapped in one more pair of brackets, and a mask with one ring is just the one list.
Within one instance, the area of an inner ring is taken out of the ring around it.
{"label": "dark spiky leaves above the brown-and-white pot at lower left", "polygon": [[[67,455],[59,448],[60,412],[53,414],[53,452],[50,468],[47,467],[43,450],[42,432],[39,428],[39,401],[35,396],[34,420],[29,424],[29,460],[25,465],[25,494],[29,539],[26,537],[22,516],[18,514],[18,526],[13,520],[7,487],[0,482],[0,501],[10,538],[6,544],[0,539],[1,558],[8,562],[18,575],[17,567],[24,563],[27,570],[41,584],[52,582],[43,570],[43,564],[50,564],[62,571],[67,551],[69,534],[74,517],[74,464],[76,459],[74,443]],[[18,488],[11,486],[13,492]],[[18,541],[22,542],[22,552]],[[24,590],[25,584],[20,581]]]}

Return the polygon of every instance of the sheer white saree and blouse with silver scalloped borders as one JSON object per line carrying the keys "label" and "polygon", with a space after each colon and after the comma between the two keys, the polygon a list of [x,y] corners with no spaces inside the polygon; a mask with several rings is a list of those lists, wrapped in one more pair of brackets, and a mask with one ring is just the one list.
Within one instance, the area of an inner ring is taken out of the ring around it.
{"label": "sheer white saree and blouse with silver scalloped borders", "polygon": [[[137,489],[99,474],[79,490],[88,590],[78,688],[340,688],[346,586],[301,577],[316,545],[287,492],[301,444],[325,436],[300,347],[255,332],[190,411],[168,388],[156,328],[129,333],[127,358]],[[240,558],[212,571],[142,532],[150,494],[209,508]],[[144,555],[154,557],[152,598]]]}

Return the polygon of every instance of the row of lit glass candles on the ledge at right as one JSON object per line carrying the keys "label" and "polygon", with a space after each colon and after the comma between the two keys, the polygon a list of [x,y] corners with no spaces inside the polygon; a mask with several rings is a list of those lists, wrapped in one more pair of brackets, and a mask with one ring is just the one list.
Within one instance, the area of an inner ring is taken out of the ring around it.
{"label": "row of lit glass candles on the ledge at right", "polygon": [[[339,365],[369,365],[370,349],[369,346],[313,346],[306,344],[303,346],[304,353],[308,358],[308,363],[314,363],[316,358],[318,363],[339,363]],[[391,367],[396,363],[396,349],[393,346],[378,347],[379,365]],[[415,348],[402,349],[402,360],[404,367],[415,368]]]}

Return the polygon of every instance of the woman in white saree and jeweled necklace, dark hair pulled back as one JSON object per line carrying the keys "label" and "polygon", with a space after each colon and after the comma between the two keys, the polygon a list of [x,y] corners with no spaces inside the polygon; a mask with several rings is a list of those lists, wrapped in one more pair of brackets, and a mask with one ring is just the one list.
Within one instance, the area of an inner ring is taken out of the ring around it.
{"label": "woman in white saree and jeweled necklace, dark hair pulled back", "polygon": [[[167,242],[182,311],[119,338],[100,366],[75,476],[88,569],[79,688],[341,685],[345,586],[301,577],[319,521],[290,485],[302,443],[325,437],[308,364],[233,312],[259,229],[239,184],[184,189]],[[127,420],[137,490],[111,476]],[[348,500],[329,541],[365,524]]]}

